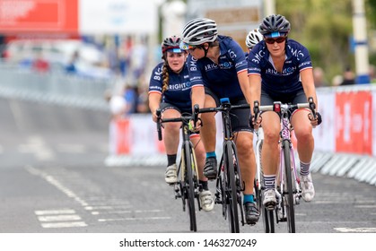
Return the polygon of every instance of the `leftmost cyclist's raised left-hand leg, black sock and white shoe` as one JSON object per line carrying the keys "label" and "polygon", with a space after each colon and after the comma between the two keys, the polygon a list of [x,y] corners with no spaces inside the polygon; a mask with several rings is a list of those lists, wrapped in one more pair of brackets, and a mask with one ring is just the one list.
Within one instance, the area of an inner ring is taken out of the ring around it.
{"label": "leftmost cyclist's raised left-hand leg, black sock and white shoe", "polygon": [[[179,108],[168,104],[162,103],[162,118],[180,117]],[[165,172],[166,183],[173,184],[178,182],[176,155],[179,147],[179,130],[181,123],[164,123],[163,127],[163,143],[167,153],[167,169]]]}

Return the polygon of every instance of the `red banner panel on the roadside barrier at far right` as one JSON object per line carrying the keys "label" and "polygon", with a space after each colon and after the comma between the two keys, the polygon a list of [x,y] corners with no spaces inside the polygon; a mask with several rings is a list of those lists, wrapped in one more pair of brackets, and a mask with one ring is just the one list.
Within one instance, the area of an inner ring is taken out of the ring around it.
{"label": "red banner panel on the roadside barrier at far right", "polygon": [[372,155],[371,91],[337,92],[336,151]]}

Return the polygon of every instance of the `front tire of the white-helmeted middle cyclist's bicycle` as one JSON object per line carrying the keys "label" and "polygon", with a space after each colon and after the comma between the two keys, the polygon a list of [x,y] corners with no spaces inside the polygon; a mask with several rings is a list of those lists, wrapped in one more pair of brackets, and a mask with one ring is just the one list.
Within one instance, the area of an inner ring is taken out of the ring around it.
{"label": "front tire of the white-helmeted middle cyclist's bicycle", "polygon": [[232,233],[240,232],[239,224],[239,211],[238,211],[238,193],[235,181],[235,170],[233,165],[233,153],[232,142],[226,142],[225,144],[225,172],[226,175],[226,185],[224,189],[227,191],[227,203],[229,204],[228,221],[229,227]]}

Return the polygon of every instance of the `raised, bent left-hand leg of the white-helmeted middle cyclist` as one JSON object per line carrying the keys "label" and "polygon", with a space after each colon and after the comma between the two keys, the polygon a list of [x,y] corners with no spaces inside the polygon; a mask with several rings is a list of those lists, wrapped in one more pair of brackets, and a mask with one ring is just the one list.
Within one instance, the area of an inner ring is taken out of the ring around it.
{"label": "raised, bent left-hand leg of the white-helmeted middle cyclist", "polygon": [[[219,105],[217,100],[215,94],[208,88],[205,88],[205,108],[217,107]],[[214,116],[215,113],[204,113],[201,115],[204,126],[200,129],[200,135],[206,151],[204,174],[209,179],[214,179],[217,176],[217,160],[215,155],[216,123]]]}

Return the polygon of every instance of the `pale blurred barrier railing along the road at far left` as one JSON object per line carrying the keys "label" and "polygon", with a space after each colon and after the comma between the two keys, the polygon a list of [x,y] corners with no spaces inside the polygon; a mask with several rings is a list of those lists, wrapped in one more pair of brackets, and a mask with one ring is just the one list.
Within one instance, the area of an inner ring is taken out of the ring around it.
{"label": "pale blurred barrier railing along the road at far left", "polygon": [[37,73],[0,61],[0,97],[35,100],[82,108],[108,109],[104,99],[115,79],[94,79],[61,71]]}

